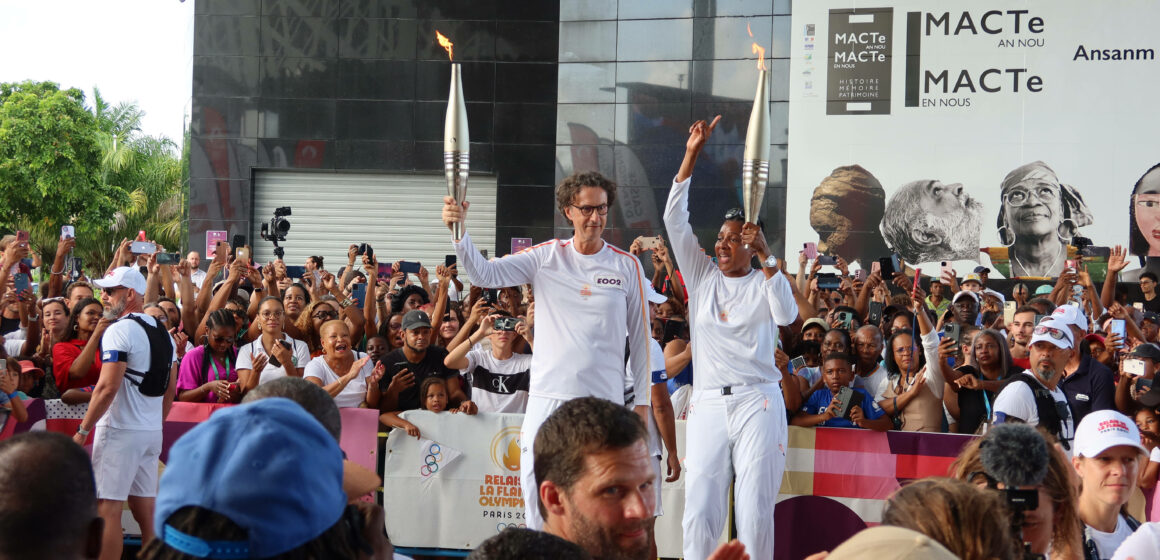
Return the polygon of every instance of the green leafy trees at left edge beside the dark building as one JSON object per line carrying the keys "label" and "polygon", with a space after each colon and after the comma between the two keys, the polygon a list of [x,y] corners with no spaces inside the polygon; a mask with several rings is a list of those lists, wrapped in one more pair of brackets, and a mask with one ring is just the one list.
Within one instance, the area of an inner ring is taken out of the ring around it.
{"label": "green leafy trees at left edge beside the dark building", "polygon": [[186,173],[167,138],[140,134],[144,112],[110,106],[94,88],[0,83],[0,228],[28,230],[51,262],[60,226],[77,226],[74,254],[100,274],[122,239],[144,230],[180,250]]}

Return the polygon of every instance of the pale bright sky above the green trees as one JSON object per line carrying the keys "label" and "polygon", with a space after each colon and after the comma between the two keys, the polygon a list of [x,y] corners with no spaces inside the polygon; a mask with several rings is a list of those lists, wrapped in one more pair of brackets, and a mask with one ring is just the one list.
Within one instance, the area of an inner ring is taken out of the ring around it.
{"label": "pale bright sky above the green trees", "polygon": [[193,90],[194,0],[0,0],[0,82],[93,87],[136,102],[142,132],[181,144]]}

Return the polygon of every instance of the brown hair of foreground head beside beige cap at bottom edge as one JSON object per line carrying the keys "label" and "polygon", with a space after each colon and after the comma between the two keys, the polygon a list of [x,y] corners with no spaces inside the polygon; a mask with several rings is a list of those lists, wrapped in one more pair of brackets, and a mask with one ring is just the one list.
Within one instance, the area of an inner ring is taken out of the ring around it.
{"label": "brown hair of foreground head beside beige cap at bottom edge", "polygon": [[999,494],[958,479],[931,477],[904,486],[886,501],[882,524],[918,531],[963,559],[1022,558]]}

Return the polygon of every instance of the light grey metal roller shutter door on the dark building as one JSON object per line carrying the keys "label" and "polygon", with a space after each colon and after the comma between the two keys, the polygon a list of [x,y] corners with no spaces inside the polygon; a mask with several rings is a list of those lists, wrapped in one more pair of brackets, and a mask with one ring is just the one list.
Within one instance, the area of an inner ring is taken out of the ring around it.
{"label": "light grey metal roller shutter door on the dark building", "polygon": [[[255,170],[249,233],[254,259],[274,260],[274,245],[259,233],[274,209],[290,206],[290,232],[280,243],[287,263],[322,255],[326,268],[338,272],[350,243],[368,242],[379,262],[419,261],[434,281],[435,266],[452,253],[451,232],[441,219],[445,195],[443,175]],[[467,199],[472,242],[494,255],[495,177],[472,175]],[[469,279],[465,272],[461,277]]]}

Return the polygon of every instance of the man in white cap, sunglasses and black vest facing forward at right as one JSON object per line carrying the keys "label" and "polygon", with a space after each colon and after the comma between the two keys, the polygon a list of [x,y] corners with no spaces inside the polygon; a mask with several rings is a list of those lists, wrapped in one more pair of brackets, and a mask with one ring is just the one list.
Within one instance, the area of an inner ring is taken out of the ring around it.
{"label": "man in white cap, sunglasses and black vest facing forward at right", "polygon": [[1067,395],[1059,388],[1059,380],[1072,358],[1073,348],[1074,340],[1067,325],[1052,318],[1041,321],[1031,334],[1031,368],[1012,376],[1012,380],[995,397],[993,423],[1041,426],[1059,439],[1070,457],[1075,423]]}

